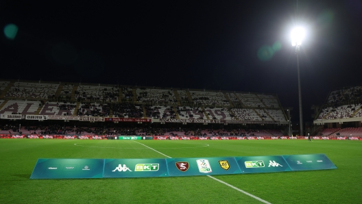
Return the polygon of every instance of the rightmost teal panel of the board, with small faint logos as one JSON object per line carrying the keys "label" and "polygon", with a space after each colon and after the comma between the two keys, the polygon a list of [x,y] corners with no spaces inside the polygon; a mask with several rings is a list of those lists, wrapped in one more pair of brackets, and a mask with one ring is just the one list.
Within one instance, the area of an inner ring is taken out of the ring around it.
{"label": "rightmost teal panel of the board, with small faint logos", "polygon": [[291,170],[321,170],[337,168],[325,154],[284,155]]}

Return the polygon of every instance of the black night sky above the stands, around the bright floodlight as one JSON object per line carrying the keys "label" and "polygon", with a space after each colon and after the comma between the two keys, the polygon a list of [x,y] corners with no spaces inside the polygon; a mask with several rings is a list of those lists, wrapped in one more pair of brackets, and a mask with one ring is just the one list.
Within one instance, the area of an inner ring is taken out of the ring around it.
{"label": "black night sky above the stands, around the bright floodlight", "polygon": [[362,85],[360,0],[1,1],[0,78],[276,93],[298,111],[295,25],[310,121],[330,90]]}

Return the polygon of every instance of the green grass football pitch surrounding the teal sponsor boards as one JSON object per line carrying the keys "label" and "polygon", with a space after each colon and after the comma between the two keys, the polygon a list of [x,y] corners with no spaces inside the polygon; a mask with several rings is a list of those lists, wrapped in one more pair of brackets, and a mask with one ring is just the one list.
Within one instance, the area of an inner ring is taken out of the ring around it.
{"label": "green grass football pitch surrounding the teal sponsor boards", "polygon": [[[137,142],[169,157],[325,153],[338,169],[213,177],[270,203],[361,203],[362,201],[362,142],[360,141],[137,140]],[[84,146],[75,146],[75,143]],[[206,176],[29,179],[38,158],[165,158],[164,155],[130,140],[1,139],[0,154],[0,203],[260,203]]]}

